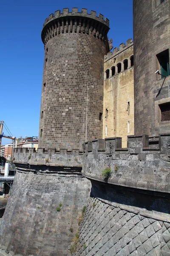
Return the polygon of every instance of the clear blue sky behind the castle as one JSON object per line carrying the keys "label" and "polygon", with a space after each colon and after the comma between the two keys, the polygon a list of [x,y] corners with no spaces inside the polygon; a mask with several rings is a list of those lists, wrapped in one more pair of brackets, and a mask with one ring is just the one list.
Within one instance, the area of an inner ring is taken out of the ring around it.
{"label": "clear blue sky behind the castle", "polygon": [[[113,47],[133,38],[133,0],[1,1],[0,120],[12,135],[38,136],[44,47],[42,25],[58,9],[78,7],[110,20]],[[7,134],[6,130],[3,130]],[[3,139],[2,144],[11,143]]]}

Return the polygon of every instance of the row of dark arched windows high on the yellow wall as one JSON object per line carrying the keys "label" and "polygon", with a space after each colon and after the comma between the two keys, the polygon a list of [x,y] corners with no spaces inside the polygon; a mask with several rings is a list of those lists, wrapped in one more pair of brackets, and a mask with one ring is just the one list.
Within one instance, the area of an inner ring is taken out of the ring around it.
{"label": "row of dark arched windows high on the yellow wall", "polygon": [[[125,60],[123,61],[123,63],[119,62],[119,63],[116,65],[116,67],[113,66],[113,67],[111,68],[111,76],[114,76],[114,75],[120,73],[120,72],[123,71],[123,70],[127,70],[128,67],[133,67],[133,55],[129,58],[129,60],[130,60],[130,61],[129,61],[129,65],[128,65],[128,59],[125,59]],[[122,68],[122,66],[123,66],[123,68]],[[108,78],[110,77],[110,70],[107,69],[107,70],[105,71],[105,73],[106,73],[106,79],[108,79]]]}

